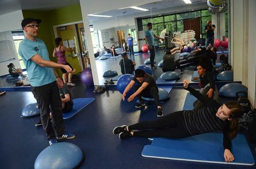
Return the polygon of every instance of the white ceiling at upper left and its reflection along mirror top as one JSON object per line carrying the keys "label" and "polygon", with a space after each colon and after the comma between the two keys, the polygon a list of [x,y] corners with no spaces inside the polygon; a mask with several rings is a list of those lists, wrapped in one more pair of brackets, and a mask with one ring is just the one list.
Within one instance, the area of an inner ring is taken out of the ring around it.
{"label": "white ceiling at upper left and its reflection along mirror top", "polygon": [[[91,0],[93,1],[93,0]],[[206,3],[207,0],[190,0],[192,4]],[[121,1],[120,1],[121,2]],[[79,0],[0,0],[0,15],[4,15],[17,10],[34,10],[34,11],[50,11],[54,9],[59,9],[63,7],[68,7],[72,5],[79,4]],[[160,10],[165,8],[172,8],[177,6],[186,5],[182,0],[165,0],[161,2],[140,5],[138,7],[145,8],[148,10]],[[95,11],[97,13],[97,11]],[[110,15],[110,16],[123,16],[141,13],[143,11],[135,9],[120,9],[112,10],[108,12],[97,13],[100,15]],[[102,18],[89,17],[92,20],[98,20]]]}

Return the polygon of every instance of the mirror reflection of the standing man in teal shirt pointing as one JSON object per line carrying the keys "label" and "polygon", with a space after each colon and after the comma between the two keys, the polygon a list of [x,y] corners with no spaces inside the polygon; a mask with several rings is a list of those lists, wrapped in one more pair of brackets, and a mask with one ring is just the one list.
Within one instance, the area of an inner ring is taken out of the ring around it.
{"label": "mirror reflection of the standing man in teal shirt pointing", "polygon": [[150,49],[150,63],[151,63],[151,68],[156,69],[157,67],[154,65],[154,60],[155,60],[155,42],[154,42],[154,37],[157,39],[161,39],[164,41],[164,38],[160,38],[159,36],[156,36],[153,31],[153,24],[151,22],[147,23],[147,30],[145,33],[146,36],[146,41],[148,48]]}

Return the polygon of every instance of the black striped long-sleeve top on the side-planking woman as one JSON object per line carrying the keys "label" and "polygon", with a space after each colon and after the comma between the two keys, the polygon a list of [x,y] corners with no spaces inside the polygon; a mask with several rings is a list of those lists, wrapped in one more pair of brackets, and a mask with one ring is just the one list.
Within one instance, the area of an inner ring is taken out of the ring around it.
{"label": "black striped long-sleeve top on the side-planking woman", "polygon": [[183,123],[185,129],[191,135],[197,135],[202,133],[207,133],[211,131],[221,130],[223,131],[223,146],[224,149],[231,149],[231,139],[228,137],[227,133],[229,131],[229,121],[221,120],[216,116],[216,112],[221,106],[220,103],[212,98],[208,98],[200,94],[193,88],[187,87],[185,89],[193,94],[199,101],[201,101],[204,106],[203,108],[193,111],[184,110],[183,111]]}

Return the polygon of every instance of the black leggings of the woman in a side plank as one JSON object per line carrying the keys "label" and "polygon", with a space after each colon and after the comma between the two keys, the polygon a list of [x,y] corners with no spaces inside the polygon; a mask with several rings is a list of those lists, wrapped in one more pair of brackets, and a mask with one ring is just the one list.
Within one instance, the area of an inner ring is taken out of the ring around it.
{"label": "black leggings of the woman in a side plank", "polygon": [[151,122],[140,122],[128,127],[137,137],[184,138],[190,136],[183,125],[183,111],[176,111]]}

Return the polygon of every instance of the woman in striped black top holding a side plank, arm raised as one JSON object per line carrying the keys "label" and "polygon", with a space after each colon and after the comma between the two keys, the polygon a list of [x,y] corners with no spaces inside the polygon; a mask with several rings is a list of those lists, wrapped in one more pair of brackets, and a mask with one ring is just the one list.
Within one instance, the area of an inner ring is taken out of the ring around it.
{"label": "woman in striped black top holding a side plank, arm raised", "polygon": [[233,161],[234,156],[230,151],[231,139],[236,137],[238,133],[238,118],[243,115],[241,105],[237,102],[220,104],[190,88],[188,84],[188,80],[185,79],[183,81],[185,90],[200,100],[204,104],[203,108],[197,111],[176,111],[156,121],[140,122],[131,126],[118,126],[114,128],[113,133],[119,134],[120,139],[131,136],[184,138],[221,130],[224,135],[224,159],[226,162]]}

